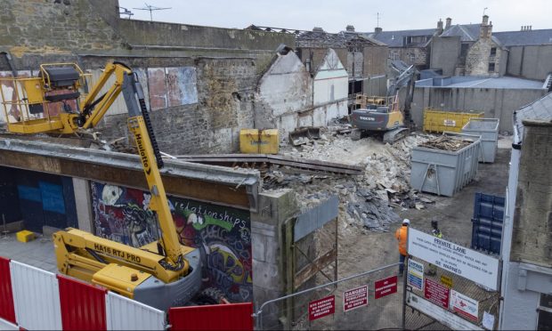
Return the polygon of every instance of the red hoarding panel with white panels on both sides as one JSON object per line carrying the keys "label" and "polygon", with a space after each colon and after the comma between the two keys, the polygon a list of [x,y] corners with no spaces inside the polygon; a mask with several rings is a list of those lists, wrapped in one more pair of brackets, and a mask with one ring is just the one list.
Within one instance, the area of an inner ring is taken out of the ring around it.
{"label": "red hoarding panel with white panels on both sides", "polygon": [[58,275],[64,330],[106,330],[107,290]]}

